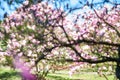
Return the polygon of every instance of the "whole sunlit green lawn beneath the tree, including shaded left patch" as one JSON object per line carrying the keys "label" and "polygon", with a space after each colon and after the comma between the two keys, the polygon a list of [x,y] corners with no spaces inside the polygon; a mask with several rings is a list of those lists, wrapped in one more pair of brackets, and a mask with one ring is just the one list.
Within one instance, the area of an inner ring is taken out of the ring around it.
{"label": "whole sunlit green lawn beneath the tree, including shaded left patch", "polygon": [[[108,80],[114,80],[114,75],[107,75]],[[105,77],[100,77],[95,72],[79,72],[71,77],[68,71],[56,71],[49,73],[46,77],[47,80],[106,80]],[[21,80],[17,71],[10,68],[0,68],[0,80]]]}

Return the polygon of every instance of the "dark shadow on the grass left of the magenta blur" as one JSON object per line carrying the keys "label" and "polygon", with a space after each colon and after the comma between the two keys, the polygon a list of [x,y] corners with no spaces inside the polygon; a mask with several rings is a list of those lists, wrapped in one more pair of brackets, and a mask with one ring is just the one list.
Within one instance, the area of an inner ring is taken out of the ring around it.
{"label": "dark shadow on the grass left of the magenta blur", "polygon": [[20,75],[15,71],[9,71],[9,72],[5,71],[0,73],[1,80],[7,80],[7,79],[9,80],[11,77],[20,77]]}

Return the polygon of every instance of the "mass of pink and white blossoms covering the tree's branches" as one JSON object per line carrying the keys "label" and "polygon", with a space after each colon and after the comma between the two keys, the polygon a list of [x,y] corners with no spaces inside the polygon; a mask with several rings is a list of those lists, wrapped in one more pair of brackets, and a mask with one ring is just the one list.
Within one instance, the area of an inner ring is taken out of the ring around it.
{"label": "mass of pink and white blossoms covering the tree's branches", "polygon": [[[114,46],[82,42],[87,40],[109,44],[120,43],[119,6],[108,12],[105,10],[107,8],[86,10],[85,13],[78,12],[72,14],[72,18],[68,18],[66,12],[54,9],[45,2],[28,8],[22,6],[2,23],[6,34],[9,34],[6,52],[15,58],[15,66],[21,70],[26,66],[21,67],[20,64],[16,64],[19,59],[22,59],[23,63],[26,61],[31,63],[30,65],[35,65],[40,55],[47,55],[43,59],[82,60],[84,58],[93,61],[101,56],[115,56],[117,48]],[[81,43],[76,43],[77,41]],[[78,65],[71,69],[72,72],[84,65],[81,62],[76,64]]]}

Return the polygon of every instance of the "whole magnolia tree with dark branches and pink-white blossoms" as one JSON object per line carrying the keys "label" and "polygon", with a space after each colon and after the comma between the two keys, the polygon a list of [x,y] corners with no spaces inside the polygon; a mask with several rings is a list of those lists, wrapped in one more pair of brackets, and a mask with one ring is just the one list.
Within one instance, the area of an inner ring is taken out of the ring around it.
{"label": "whole magnolia tree with dark branches and pink-white blossoms", "polygon": [[56,62],[76,63],[72,72],[87,63],[115,62],[120,79],[120,5],[66,11],[47,2],[26,6],[27,2],[0,28],[1,53],[12,57],[23,79],[36,80],[33,73],[42,70],[46,75]]}

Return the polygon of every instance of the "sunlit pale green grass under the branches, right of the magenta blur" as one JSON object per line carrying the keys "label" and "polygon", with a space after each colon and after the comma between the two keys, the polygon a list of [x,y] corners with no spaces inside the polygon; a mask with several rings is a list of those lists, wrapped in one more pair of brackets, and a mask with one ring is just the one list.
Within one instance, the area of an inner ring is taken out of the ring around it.
{"label": "sunlit pale green grass under the branches, right of the magenta blur", "polygon": [[[108,80],[114,80],[114,75],[106,75]],[[68,71],[58,71],[56,73],[49,73],[47,76],[49,80],[106,80],[104,76],[100,77],[95,72],[80,72],[73,74],[72,77],[68,75]]]}

